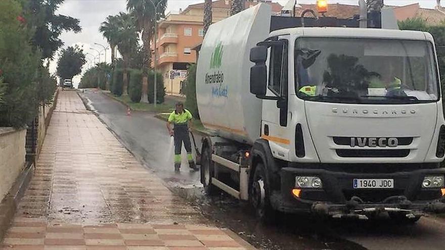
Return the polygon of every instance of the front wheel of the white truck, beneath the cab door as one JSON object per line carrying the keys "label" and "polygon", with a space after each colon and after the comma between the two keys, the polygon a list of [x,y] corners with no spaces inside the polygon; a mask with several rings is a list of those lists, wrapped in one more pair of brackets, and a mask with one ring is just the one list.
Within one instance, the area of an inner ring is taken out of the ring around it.
{"label": "front wheel of the white truck, beneath the cab door", "polygon": [[262,163],[256,165],[249,190],[250,204],[255,209],[256,215],[263,222],[272,222],[275,218],[275,211],[269,200],[269,183],[266,180],[265,169]]}

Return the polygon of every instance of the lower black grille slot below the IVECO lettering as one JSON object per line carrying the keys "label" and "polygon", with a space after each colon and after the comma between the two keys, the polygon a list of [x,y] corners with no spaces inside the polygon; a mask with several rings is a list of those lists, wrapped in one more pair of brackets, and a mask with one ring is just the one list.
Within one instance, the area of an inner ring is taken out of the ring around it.
{"label": "lower black grille slot below the IVECO lettering", "polygon": [[410,154],[410,149],[336,149],[339,157],[391,157],[403,158]]}

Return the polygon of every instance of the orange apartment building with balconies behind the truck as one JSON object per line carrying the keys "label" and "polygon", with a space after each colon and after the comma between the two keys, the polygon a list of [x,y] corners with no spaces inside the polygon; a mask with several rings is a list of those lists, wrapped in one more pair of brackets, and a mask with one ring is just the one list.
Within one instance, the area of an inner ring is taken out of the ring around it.
{"label": "orange apartment building with balconies behind the truck", "polygon": [[[246,8],[258,2],[272,5],[274,14],[279,15],[282,6],[271,0],[246,2]],[[212,3],[212,21],[217,22],[230,16],[230,0]],[[188,6],[179,14],[167,14],[158,24],[158,71],[162,72],[167,93],[178,94],[181,82],[185,80],[187,67],[196,62],[196,52],[192,49],[203,39],[204,3]],[[154,53],[154,42],[151,43]],[[154,57],[152,57],[154,58]]]}

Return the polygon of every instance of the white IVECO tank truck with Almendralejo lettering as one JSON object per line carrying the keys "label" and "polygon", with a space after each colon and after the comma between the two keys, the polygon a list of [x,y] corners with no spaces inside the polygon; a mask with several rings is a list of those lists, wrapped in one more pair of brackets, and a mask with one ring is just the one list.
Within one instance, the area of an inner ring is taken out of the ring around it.
{"label": "white IVECO tank truck with Almendralejo lettering", "polygon": [[[275,25],[277,26],[277,25]],[[280,26],[280,25],[278,25]],[[445,211],[433,38],[293,27],[259,4],[212,24],[197,66],[201,182],[274,210],[415,222]]]}

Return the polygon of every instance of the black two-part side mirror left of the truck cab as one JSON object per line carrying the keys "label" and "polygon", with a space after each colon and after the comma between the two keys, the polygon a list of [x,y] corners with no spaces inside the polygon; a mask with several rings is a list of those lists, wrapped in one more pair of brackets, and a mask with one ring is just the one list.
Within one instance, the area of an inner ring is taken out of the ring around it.
{"label": "black two-part side mirror left of the truck cab", "polygon": [[255,46],[250,49],[250,61],[255,63],[250,68],[250,92],[255,95],[265,95],[267,90],[268,70],[266,60],[268,48]]}

